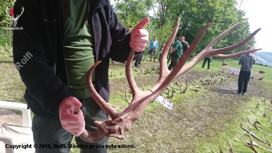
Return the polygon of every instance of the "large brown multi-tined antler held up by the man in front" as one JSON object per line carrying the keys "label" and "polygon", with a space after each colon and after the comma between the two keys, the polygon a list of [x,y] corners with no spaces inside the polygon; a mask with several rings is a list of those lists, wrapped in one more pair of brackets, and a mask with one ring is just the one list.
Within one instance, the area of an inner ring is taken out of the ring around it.
{"label": "large brown multi-tined antler held up by the man in front", "polygon": [[[85,130],[82,135],[80,135],[80,138],[86,142],[94,143],[98,142],[104,137],[115,137],[118,139],[124,139],[125,132],[129,131],[131,129],[132,124],[140,117],[140,115],[143,113],[146,106],[153,102],[161,93],[168,87],[168,85],[181,76],[181,74],[188,71],[190,68],[192,68],[195,64],[197,64],[201,59],[207,56],[217,56],[225,58],[225,55],[222,55],[221,53],[233,51],[243,45],[245,45],[251,38],[253,38],[257,32],[260,30],[256,30],[253,32],[250,36],[245,38],[243,41],[226,47],[222,49],[216,49],[212,50],[212,47],[223,37],[225,36],[230,30],[232,30],[234,27],[236,27],[239,23],[233,25],[231,28],[229,28],[227,31],[219,35],[215,40],[213,40],[203,51],[201,51],[198,55],[196,55],[188,64],[184,65],[187,59],[190,57],[192,52],[196,49],[199,42],[202,40],[202,38],[205,35],[205,31],[215,23],[209,23],[205,25],[198,33],[194,41],[191,43],[190,48],[184,53],[182,56],[180,62],[177,64],[177,66],[173,69],[173,71],[169,71],[167,69],[167,63],[166,63],[166,57],[168,50],[170,48],[170,45],[175,38],[179,26],[180,26],[181,19],[178,18],[175,29],[170,36],[169,40],[166,43],[166,47],[163,50],[163,53],[161,55],[160,60],[160,73],[159,73],[159,79],[157,83],[149,90],[147,91],[141,91],[134,80],[133,73],[132,73],[132,60],[134,57],[135,51],[132,49],[129,57],[127,59],[126,64],[126,76],[128,79],[128,83],[132,92],[133,99],[129,106],[123,111],[123,112],[117,112],[115,109],[113,109],[107,102],[105,102],[99,94],[95,91],[92,83],[91,83],[91,74],[92,71],[95,69],[95,67],[101,62],[98,61],[95,63],[91,69],[89,70],[87,81],[88,81],[88,87],[91,92],[91,96],[97,102],[97,104],[111,117],[112,120],[107,121],[94,121],[95,125],[97,126],[97,130],[90,132]],[[144,28],[144,27],[143,27]],[[252,51],[258,51],[261,49],[256,50],[250,50],[250,51],[242,51],[234,54],[230,54],[227,57],[234,57],[241,54],[249,53]]]}

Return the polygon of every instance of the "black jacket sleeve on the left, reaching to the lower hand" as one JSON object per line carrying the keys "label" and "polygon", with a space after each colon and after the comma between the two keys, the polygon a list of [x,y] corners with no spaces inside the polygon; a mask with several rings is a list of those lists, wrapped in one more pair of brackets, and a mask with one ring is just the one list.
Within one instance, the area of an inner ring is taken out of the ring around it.
{"label": "black jacket sleeve on the left, reaching to the lower hand", "polygon": [[38,4],[29,1],[17,0],[14,5],[14,14],[21,13],[22,5],[24,11],[16,25],[23,30],[13,31],[13,60],[32,97],[46,111],[58,115],[59,103],[71,94],[67,85],[56,76],[56,63],[48,59],[50,55],[45,51],[49,40],[46,39],[42,21],[38,20],[41,15],[37,13],[40,11]]}

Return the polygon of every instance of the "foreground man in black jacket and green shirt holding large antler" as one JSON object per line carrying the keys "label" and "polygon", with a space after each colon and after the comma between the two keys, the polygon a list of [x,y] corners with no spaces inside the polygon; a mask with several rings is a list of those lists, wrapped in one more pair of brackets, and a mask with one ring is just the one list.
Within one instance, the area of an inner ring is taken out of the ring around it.
{"label": "foreground man in black jacket and green shirt holding large antler", "polygon": [[[148,32],[141,28],[149,19],[127,35],[108,0],[17,0],[14,14],[21,14],[16,26],[23,28],[13,32],[14,63],[35,114],[34,143],[50,145],[36,152],[69,153],[73,135],[78,145],[106,145],[108,138],[90,144],[78,137],[84,129],[96,130],[93,121],[108,119],[88,91],[88,70],[101,60],[92,82],[108,102],[109,59],[124,61],[131,48],[136,59],[148,42]],[[107,151],[106,146],[89,149],[81,148],[81,153]]]}

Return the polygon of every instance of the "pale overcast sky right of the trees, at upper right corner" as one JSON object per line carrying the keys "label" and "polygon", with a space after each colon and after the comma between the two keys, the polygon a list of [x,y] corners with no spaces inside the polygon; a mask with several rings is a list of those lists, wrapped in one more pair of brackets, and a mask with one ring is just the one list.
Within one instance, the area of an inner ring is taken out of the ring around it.
{"label": "pale overcast sky right of the trees, at upper right corner", "polygon": [[272,51],[272,0],[244,0],[241,10],[250,24],[250,32],[262,28],[256,35],[256,47],[261,51]]}

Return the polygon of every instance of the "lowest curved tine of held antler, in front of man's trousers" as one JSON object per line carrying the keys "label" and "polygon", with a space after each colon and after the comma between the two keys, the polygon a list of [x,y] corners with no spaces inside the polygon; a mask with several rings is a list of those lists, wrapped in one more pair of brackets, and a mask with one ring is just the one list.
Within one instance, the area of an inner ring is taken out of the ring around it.
{"label": "lowest curved tine of held antler, in front of man's trousers", "polygon": [[101,61],[98,61],[95,63],[89,70],[88,75],[87,75],[87,83],[89,84],[88,88],[90,93],[92,93],[92,97],[94,101],[111,117],[111,118],[116,118],[117,117],[117,112],[110,106],[108,105],[107,102],[103,100],[103,98],[96,92],[94,89],[92,82],[91,82],[91,75],[95,67],[100,63]]}

